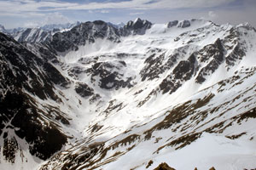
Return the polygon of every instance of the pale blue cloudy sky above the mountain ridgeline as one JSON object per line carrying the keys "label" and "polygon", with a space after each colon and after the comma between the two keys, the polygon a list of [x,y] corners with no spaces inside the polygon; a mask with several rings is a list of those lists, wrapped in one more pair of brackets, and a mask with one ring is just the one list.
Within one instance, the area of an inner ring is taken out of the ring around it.
{"label": "pale blue cloudy sky above the mountain ridgeline", "polygon": [[0,24],[6,28],[77,20],[125,23],[137,17],[154,23],[197,18],[256,27],[256,0],[0,0]]}

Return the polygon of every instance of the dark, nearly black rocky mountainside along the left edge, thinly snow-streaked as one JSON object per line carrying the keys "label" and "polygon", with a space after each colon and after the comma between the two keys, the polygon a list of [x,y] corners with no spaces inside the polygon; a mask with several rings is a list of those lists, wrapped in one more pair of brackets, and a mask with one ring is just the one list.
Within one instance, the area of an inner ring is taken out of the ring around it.
{"label": "dark, nearly black rocky mountainside along the left edge, thinly snow-streaked", "polygon": [[2,33],[0,43],[0,134],[4,136],[3,151],[9,150],[3,152],[3,156],[8,161],[15,161],[17,150],[22,149],[17,143],[19,137],[29,145],[33,156],[46,160],[67,142],[67,136],[61,133],[52,116],[59,116],[67,124],[68,121],[61,116],[61,111],[40,110],[32,96],[58,102],[54,83],[65,87],[69,82],[53,65]]}

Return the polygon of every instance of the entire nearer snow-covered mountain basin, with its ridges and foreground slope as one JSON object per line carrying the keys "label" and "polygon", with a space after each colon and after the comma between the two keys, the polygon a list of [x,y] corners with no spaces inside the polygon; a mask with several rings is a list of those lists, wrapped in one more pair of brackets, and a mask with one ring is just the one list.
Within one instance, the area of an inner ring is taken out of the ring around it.
{"label": "entire nearer snow-covered mountain basin, with its ridges and foreground slope", "polygon": [[256,30],[206,20],[0,34],[0,167],[253,169]]}

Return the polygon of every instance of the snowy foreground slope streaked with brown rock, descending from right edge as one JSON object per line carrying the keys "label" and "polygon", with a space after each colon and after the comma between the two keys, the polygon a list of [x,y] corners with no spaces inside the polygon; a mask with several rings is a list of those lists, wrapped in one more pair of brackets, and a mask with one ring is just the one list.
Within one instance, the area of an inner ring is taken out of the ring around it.
{"label": "snowy foreground slope streaked with brown rock, descending from right edge", "polygon": [[152,121],[101,138],[103,143],[98,139],[64,150],[44,168],[145,169],[150,160],[154,164],[148,169],[162,161],[177,169],[254,168],[255,68],[239,75],[167,107]]}

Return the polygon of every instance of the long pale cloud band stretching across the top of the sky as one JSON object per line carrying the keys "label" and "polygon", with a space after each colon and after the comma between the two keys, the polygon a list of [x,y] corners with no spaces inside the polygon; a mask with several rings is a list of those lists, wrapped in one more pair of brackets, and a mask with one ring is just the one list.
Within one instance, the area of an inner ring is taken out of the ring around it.
{"label": "long pale cloud band stretching across the top of the sky", "polygon": [[36,1],[36,0],[4,0],[0,1],[0,11],[2,13],[14,14],[27,12],[57,12],[60,10],[96,10],[96,9],[175,9],[175,8],[212,8],[223,4],[231,3],[236,0],[131,0],[108,3],[67,3],[55,0]]}

